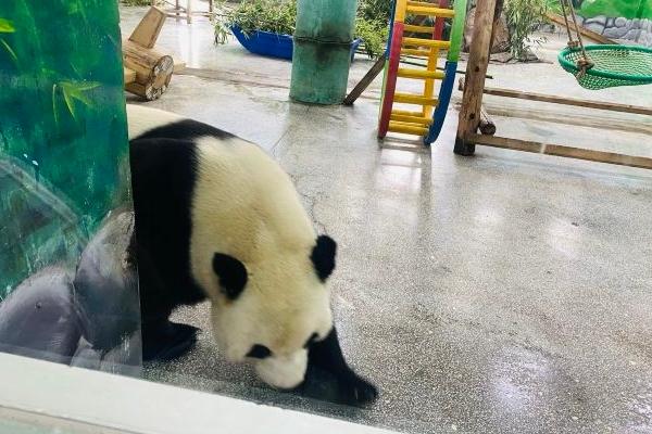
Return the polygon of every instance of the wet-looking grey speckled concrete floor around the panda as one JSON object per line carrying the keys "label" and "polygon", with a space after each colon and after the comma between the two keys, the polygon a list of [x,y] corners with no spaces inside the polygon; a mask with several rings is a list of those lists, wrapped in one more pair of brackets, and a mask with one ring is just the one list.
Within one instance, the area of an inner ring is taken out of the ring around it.
{"label": "wet-looking grey speckled concrete floor around the panda", "polygon": [[[141,12],[123,10],[125,33]],[[158,47],[189,69],[149,105],[269,151],[338,240],[343,349],[381,397],[354,410],[265,388],[220,359],[203,305],[176,314],[205,330],[197,348],[148,379],[411,433],[652,433],[652,173],[487,148],[460,157],[454,110],[431,150],[383,149],[378,82],[353,108],[306,106],[288,101],[288,62],[213,47],[205,21],[168,21]],[[368,67],[356,61],[352,84]],[[652,101],[650,86],[587,93],[554,64],[490,73],[496,87]],[[501,133],[652,155],[649,118],[528,104],[488,100]]]}

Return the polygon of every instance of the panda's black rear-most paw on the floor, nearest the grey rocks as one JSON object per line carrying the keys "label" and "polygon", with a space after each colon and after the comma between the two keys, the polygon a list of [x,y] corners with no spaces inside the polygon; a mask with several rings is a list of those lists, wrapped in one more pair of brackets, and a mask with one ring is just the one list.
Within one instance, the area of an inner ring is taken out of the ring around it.
{"label": "panda's black rear-most paw on the floor, nearest the grey rocks", "polygon": [[171,322],[167,318],[142,322],[142,359],[174,360],[197,343],[198,328]]}

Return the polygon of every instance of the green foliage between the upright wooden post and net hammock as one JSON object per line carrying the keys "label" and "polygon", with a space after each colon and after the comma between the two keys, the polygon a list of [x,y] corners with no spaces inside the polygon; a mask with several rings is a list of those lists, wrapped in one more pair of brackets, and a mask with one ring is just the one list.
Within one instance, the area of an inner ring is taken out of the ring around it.
{"label": "green foliage between the upright wooden post and net hammock", "polygon": [[504,12],[510,29],[510,46],[515,59],[527,59],[528,44],[543,41],[540,38],[532,38],[531,35],[541,23],[548,3],[549,0],[505,0]]}

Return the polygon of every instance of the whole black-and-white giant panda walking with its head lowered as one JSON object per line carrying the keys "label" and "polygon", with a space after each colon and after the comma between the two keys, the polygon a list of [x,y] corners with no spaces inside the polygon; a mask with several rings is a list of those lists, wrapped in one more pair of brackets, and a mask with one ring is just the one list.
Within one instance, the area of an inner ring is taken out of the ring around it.
{"label": "whole black-and-white giant panda walking with its head lowered", "polygon": [[317,237],[287,174],[264,151],[172,113],[127,105],[145,359],[172,359],[197,329],[172,323],[180,305],[211,301],[222,352],[266,383],[335,378],[336,400],[375,387],[346,363],[327,279],[336,243]]}

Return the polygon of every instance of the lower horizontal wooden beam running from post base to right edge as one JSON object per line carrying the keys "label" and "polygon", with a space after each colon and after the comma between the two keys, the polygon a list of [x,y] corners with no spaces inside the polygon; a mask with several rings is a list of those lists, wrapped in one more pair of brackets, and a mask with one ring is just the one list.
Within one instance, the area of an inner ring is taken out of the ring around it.
{"label": "lower horizontal wooden beam running from post base to right edge", "polygon": [[562,144],[542,143],[529,140],[510,139],[505,137],[485,136],[476,133],[468,135],[466,137],[466,140],[475,144],[482,144],[492,148],[563,156],[567,158],[585,159],[589,162],[615,164],[618,166],[652,169],[652,158],[644,156],[625,155],[613,152],[566,146]]}

